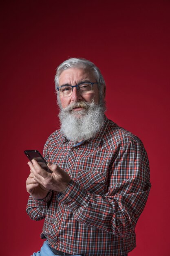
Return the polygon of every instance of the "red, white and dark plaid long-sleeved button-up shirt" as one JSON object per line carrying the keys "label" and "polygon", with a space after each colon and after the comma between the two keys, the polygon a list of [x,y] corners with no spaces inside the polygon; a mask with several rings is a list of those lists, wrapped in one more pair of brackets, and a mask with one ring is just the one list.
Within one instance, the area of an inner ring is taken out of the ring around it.
{"label": "red, white and dark plaid long-sleeved button-up shirt", "polygon": [[45,218],[41,238],[69,254],[120,256],[136,247],[135,226],[150,191],[141,140],[105,117],[97,136],[79,146],[60,130],[46,141],[44,157],[71,176],[64,193],[31,196],[27,213]]}

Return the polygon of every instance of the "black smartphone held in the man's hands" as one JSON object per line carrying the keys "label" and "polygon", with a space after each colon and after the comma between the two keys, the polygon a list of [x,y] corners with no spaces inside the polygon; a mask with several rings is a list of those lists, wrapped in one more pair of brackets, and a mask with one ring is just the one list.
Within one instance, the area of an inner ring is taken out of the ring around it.
{"label": "black smartphone held in the man's hands", "polygon": [[38,150],[25,150],[24,154],[28,157],[30,161],[35,159],[45,171],[47,171],[48,173],[52,173],[52,171],[47,166],[46,160]]}

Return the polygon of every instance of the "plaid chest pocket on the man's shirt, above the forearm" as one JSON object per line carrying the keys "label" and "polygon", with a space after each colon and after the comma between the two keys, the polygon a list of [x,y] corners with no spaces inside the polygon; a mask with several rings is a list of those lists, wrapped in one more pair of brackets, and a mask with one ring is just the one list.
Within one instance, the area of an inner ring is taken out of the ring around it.
{"label": "plaid chest pocket on the man's shirt, above the forearm", "polygon": [[76,182],[90,193],[104,195],[106,174],[97,171],[79,170]]}

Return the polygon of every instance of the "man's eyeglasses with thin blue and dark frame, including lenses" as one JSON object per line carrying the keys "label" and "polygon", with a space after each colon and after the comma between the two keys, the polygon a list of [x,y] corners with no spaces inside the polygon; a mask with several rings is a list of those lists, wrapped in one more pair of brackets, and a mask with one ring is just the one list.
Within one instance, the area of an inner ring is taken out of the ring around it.
{"label": "man's eyeglasses with thin blue and dark frame, including lenses", "polygon": [[93,85],[98,83],[80,83],[78,85],[62,85],[57,87],[57,90],[60,92],[62,97],[69,97],[73,92],[73,88],[76,87],[80,94],[88,94],[93,91]]}

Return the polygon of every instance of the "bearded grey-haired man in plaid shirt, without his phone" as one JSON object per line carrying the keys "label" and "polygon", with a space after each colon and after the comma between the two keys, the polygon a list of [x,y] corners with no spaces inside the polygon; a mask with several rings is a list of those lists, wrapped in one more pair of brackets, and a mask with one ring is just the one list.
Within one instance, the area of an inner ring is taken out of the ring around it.
{"label": "bearded grey-haired man in plaid shirt, without his phone", "polygon": [[52,173],[33,160],[26,189],[31,219],[45,218],[33,256],[124,256],[150,191],[141,140],[107,119],[106,85],[90,61],[71,58],[55,76],[60,130],[44,146]]}

